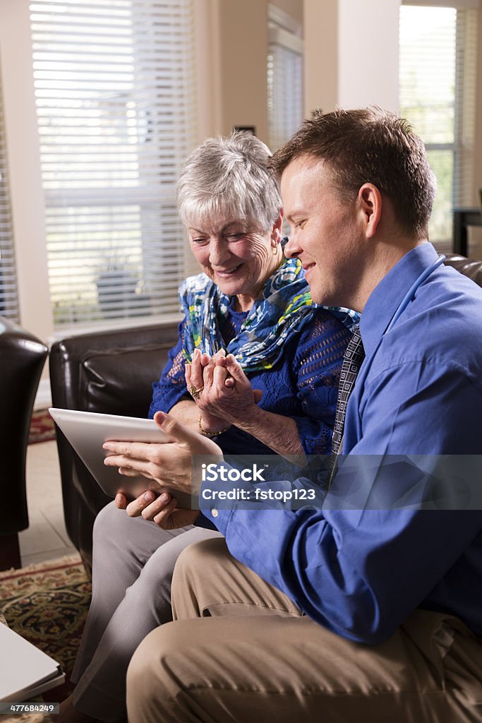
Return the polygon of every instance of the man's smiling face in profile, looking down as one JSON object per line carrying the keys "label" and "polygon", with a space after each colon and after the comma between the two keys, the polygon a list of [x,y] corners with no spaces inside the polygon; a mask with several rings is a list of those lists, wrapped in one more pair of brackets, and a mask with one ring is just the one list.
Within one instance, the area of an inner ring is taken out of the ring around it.
{"label": "man's smiling face in profile, looking down", "polygon": [[281,176],[291,238],[285,255],[301,260],[317,304],[356,308],[361,224],[356,202],[343,201],[322,161],[302,155]]}

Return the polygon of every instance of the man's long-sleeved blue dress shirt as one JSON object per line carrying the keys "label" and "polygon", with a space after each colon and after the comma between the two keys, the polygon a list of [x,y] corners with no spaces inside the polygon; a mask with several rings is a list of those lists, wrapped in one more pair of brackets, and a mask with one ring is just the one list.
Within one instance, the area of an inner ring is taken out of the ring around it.
{"label": "man's long-sleeved blue dress shirt", "polygon": [[[481,455],[481,288],[440,266],[385,333],[436,257],[429,243],[412,249],[363,309],[366,359],[348,402],[347,461],[352,455]],[[412,469],[404,461],[385,466],[382,497],[403,498]],[[338,479],[340,473],[327,501],[343,492]],[[236,501],[222,509],[202,502],[201,508],[234,557],[341,636],[379,643],[416,607],[450,612],[482,635],[481,509],[272,510]]]}

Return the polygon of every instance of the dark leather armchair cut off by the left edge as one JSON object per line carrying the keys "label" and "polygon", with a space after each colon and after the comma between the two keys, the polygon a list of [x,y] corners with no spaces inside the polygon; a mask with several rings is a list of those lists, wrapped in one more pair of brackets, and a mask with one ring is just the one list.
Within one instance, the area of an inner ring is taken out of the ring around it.
{"label": "dark leather armchair cut off by the left edge", "polygon": [[0,317],[0,570],[20,568],[18,533],[28,527],[25,456],[47,352],[33,334]]}

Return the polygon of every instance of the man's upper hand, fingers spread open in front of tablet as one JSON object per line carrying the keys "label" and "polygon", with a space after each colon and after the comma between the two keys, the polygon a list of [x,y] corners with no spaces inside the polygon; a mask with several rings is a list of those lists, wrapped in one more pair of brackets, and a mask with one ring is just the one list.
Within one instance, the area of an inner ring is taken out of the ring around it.
{"label": "man's upper hand, fingers spread open in front of tablet", "polygon": [[104,442],[108,467],[117,467],[119,474],[154,480],[159,487],[172,487],[179,492],[198,495],[200,480],[191,479],[192,455],[215,455],[222,458],[218,445],[207,437],[191,432],[184,424],[162,411],[154,415],[155,423],[170,437],[170,442]]}

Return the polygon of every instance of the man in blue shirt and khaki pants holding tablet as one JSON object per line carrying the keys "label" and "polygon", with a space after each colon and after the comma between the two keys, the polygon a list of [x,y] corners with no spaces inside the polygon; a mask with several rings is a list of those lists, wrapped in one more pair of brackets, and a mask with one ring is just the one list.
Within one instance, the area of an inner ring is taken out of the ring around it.
{"label": "man in blue shirt and khaki pants holding tablet", "polygon": [[[412,504],[420,469],[405,455],[437,467],[441,455],[481,454],[482,292],[427,242],[434,177],[405,121],[376,108],[315,113],[274,168],[285,253],[301,259],[314,301],[363,312],[365,359],[335,431],[347,460],[379,455],[367,492],[378,503],[362,490],[363,504],[344,509],[341,471],[338,508],[203,503],[198,523],[225,541],[179,558],[174,622],[129,668],[129,720],[481,722],[482,511]],[[205,384],[223,390],[230,374],[236,364],[220,359]],[[109,443],[106,463],[189,489],[191,453],[219,450],[157,419],[176,442]],[[161,526],[197,518],[153,497],[128,513]]]}

